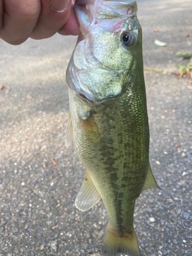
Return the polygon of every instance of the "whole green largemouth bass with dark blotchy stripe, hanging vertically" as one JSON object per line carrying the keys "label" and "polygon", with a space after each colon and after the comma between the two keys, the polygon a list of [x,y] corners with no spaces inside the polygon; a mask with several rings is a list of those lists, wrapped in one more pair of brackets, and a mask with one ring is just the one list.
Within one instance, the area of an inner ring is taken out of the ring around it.
{"label": "whole green largemouth bass with dark blotchy stripe, hanging vertically", "polygon": [[103,256],[139,256],[135,201],[142,191],[158,185],[149,161],[137,3],[75,0],[75,13],[82,35],[66,72],[66,147],[74,143],[86,168],[75,205],[86,211],[103,200],[109,217]]}

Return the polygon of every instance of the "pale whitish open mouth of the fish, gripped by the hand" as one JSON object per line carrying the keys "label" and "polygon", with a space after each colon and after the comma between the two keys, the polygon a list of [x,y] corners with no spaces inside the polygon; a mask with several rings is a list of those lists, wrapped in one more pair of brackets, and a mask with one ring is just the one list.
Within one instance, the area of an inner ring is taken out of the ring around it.
{"label": "pale whitish open mouth of the fish, gripped by the hand", "polygon": [[137,3],[126,0],[75,0],[75,13],[84,36],[90,32],[91,25],[96,25],[103,31],[114,32],[122,26],[125,19],[136,15]]}

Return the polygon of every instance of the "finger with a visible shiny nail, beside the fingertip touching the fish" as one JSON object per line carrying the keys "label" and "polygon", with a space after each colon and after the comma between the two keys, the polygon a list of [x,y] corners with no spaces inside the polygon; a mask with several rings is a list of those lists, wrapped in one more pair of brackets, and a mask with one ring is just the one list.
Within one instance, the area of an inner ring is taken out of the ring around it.
{"label": "finger with a visible shiny nail, beside the fingertip touching the fish", "polygon": [[67,23],[71,0],[41,0],[41,13],[31,34],[33,39],[48,38]]}

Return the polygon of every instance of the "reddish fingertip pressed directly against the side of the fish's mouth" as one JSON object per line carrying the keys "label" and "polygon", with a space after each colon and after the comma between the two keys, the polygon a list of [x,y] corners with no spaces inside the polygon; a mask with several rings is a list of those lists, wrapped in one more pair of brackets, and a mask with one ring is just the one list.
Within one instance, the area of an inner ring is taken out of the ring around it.
{"label": "reddish fingertip pressed directly against the side of the fish's mouth", "polygon": [[71,13],[68,22],[59,29],[58,33],[61,35],[79,35],[81,33],[73,4],[71,5]]}

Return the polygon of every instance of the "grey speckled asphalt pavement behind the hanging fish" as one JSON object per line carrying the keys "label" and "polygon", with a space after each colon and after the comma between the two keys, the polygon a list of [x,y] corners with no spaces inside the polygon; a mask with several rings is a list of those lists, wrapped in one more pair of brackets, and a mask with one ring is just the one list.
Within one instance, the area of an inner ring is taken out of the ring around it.
{"label": "grey speckled asphalt pavement behind the hanging fish", "polygon": [[[188,61],[176,52],[192,51],[192,2],[139,0],[138,9],[150,161],[162,190],[137,199],[135,230],[142,256],[191,256],[192,85],[172,71]],[[75,42],[60,35],[20,46],[0,40],[1,256],[100,255],[106,210],[102,201],[76,209],[84,167],[65,147],[65,71]]]}

